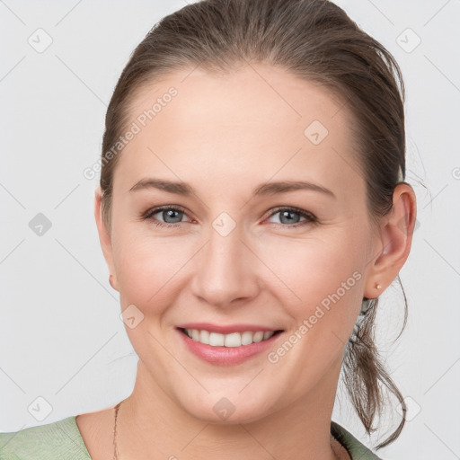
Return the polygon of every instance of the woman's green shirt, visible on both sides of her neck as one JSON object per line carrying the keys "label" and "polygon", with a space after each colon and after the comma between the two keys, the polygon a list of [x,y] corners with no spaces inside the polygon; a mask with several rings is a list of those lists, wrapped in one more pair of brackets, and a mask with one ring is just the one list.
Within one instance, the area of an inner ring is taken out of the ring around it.
{"label": "woman's green shirt, visible on both sides of her neck", "polygon": [[[334,421],[331,432],[353,460],[381,460]],[[91,456],[74,415],[39,427],[0,433],[0,460],[91,460]]]}

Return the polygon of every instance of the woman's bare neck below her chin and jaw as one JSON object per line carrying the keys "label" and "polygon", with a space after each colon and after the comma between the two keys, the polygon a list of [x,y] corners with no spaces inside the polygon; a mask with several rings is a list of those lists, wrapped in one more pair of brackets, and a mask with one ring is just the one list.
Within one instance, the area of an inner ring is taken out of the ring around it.
{"label": "woman's bare neck below her chin and jaw", "polygon": [[[155,384],[142,362],[119,408],[119,460],[234,458],[333,460],[331,417],[340,367],[302,400],[257,421],[212,424],[184,411]],[[337,374],[337,375],[336,375]]]}

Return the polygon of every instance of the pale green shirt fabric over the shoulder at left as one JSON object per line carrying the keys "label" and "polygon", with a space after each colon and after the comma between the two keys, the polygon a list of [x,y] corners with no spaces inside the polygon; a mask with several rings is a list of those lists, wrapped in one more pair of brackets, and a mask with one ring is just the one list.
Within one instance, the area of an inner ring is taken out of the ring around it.
{"label": "pale green shirt fabric over the shoulder at left", "polygon": [[0,460],[91,460],[75,416],[0,433]]}

